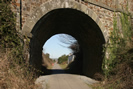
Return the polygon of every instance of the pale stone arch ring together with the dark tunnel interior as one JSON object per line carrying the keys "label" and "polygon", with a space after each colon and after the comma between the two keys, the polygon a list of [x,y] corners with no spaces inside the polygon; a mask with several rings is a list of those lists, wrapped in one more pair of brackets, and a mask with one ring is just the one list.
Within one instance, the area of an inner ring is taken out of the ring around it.
{"label": "pale stone arch ring together with the dark tunnel interior", "polygon": [[96,13],[83,4],[73,0],[49,0],[31,14],[23,27],[23,34],[31,36],[30,64],[40,70],[43,44],[55,34],[66,33],[81,45],[75,62],[81,66],[80,73],[93,76],[101,71],[102,46],[107,40],[102,25]]}

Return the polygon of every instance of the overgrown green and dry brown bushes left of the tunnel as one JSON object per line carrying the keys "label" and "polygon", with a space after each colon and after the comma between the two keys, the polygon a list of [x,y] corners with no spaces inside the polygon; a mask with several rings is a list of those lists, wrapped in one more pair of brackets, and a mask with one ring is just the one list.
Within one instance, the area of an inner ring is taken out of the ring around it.
{"label": "overgrown green and dry brown bushes left of the tunnel", "polygon": [[10,0],[0,0],[0,89],[36,89],[35,75],[23,56]]}

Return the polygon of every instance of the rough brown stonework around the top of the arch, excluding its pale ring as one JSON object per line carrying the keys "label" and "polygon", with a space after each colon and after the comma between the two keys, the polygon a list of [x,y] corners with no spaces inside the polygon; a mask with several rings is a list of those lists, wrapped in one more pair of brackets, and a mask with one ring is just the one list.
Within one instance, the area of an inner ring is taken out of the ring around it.
{"label": "rough brown stonework around the top of the arch, excluding its pale ring", "polygon": [[[12,6],[14,8],[13,11],[16,13],[17,16],[17,28],[21,28],[21,25],[23,27],[27,18],[29,18],[31,14],[35,13],[35,10],[47,1],[51,0],[12,0]],[[60,0],[57,0],[57,2],[59,1]],[[52,4],[54,5],[54,3]],[[96,12],[100,20],[105,23],[104,27],[109,31],[113,29],[113,11],[122,11],[122,9],[125,9],[127,5],[127,0],[84,0],[82,4],[85,4],[88,8]],[[133,0],[128,0],[128,7],[130,13],[133,13]],[[20,10],[22,12],[21,18]],[[109,32],[106,32],[106,34],[109,34]]]}

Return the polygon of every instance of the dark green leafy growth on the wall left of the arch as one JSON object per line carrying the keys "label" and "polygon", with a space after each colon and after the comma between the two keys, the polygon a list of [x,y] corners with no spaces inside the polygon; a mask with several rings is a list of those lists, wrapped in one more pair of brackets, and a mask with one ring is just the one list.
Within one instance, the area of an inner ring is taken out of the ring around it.
{"label": "dark green leafy growth on the wall left of the arch", "polygon": [[0,49],[10,51],[9,59],[23,60],[23,44],[16,31],[16,19],[10,0],[0,0]]}

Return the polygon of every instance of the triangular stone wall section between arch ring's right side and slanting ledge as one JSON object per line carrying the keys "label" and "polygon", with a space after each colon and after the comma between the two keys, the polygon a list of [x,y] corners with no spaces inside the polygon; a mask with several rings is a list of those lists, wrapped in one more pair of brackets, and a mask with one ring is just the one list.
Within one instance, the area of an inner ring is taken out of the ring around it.
{"label": "triangular stone wall section between arch ring's right side and slanting ledge", "polygon": [[[84,3],[88,8],[90,8],[92,11],[96,13],[102,24],[104,24],[105,28],[105,34],[109,36],[110,31],[113,30],[113,17],[114,17],[114,12],[110,11],[105,8],[98,7],[96,5],[93,5],[91,3]],[[92,15],[93,16],[93,15]],[[102,29],[101,28],[101,29]]]}

